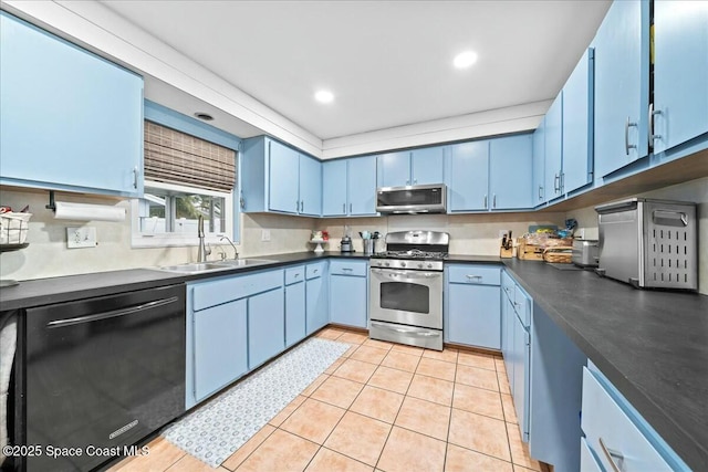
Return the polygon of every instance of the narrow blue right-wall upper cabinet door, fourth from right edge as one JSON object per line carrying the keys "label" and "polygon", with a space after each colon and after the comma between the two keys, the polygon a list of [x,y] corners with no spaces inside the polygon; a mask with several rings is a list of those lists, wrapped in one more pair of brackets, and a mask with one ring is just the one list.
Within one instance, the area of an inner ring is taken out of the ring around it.
{"label": "narrow blue right-wall upper cabinet door, fourth from right edge", "polygon": [[545,164],[544,175],[545,201],[551,201],[560,197],[561,172],[563,164],[563,92],[553,101],[553,104],[545,114]]}

